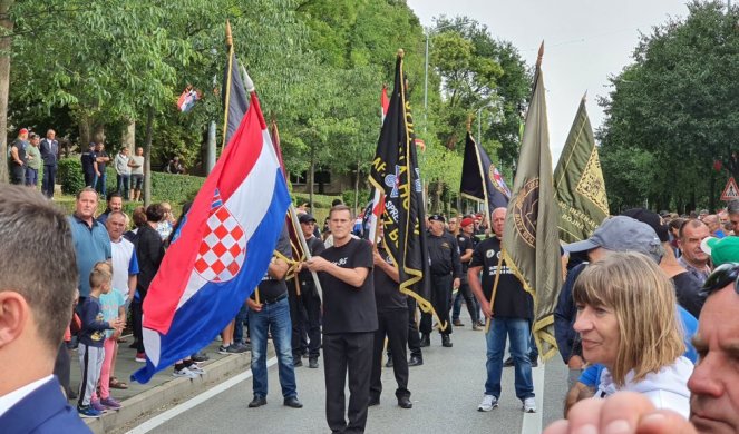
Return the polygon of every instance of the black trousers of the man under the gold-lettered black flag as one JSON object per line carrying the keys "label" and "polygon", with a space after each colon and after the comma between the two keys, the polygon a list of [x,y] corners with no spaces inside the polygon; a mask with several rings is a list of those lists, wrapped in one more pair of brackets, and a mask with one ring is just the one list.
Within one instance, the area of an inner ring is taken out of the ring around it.
{"label": "black trousers of the man under the gold-lettered black flag", "polygon": [[382,393],[382,348],[385,337],[388,337],[388,349],[392,353],[392,372],[398,388],[396,397],[410,397],[408,391],[408,358],[406,344],[408,343],[407,310],[393,309],[378,312],[378,328],[375,332],[375,349],[372,352],[372,376],[370,378],[370,397],[380,397]]}

